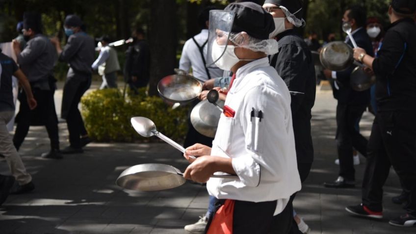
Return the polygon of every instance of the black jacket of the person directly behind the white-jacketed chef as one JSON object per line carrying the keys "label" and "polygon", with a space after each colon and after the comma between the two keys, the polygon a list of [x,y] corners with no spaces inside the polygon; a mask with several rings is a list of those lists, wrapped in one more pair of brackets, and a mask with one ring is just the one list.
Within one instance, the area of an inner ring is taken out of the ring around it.
{"label": "black jacket of the person directly behind the white-jacketed chef", "polygon": [[298,162],[312,163],[311,109],[315,103],[315,68],[312,54],[305,41],[295,30],[278,36],[279,52],[270,56],[270,65],[276,68],[291,91],[291,111]]}

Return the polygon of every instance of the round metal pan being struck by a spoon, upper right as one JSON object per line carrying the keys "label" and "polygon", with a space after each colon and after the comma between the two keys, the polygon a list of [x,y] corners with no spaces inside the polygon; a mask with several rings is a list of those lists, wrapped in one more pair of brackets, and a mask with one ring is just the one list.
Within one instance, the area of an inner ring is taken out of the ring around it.
{"label": "round metal pan being struck by a spoon, upper right", "polygon": [[352,48],[342,41],[334,41],[326,44],[320,54],[319,59],[322,66],[331,71],[342,71],[354,63]]}

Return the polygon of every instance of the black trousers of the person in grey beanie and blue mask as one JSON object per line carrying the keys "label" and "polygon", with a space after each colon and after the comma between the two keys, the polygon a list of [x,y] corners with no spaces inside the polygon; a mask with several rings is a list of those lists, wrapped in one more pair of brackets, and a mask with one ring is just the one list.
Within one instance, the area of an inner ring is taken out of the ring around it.
{"label": "black trousers of the person in grey beanie and blue mask", "polygon": [[82,120],[81,113],[78,109],[79,101],[81,101],[82,95],[85,93],[87,86],[89,86],[90,80],[85,80],[78,85],[75,91],[74,99],[68,110],[66,117],[66,123],[69,131],[69,143],[73,148],[81,148],[80,136],[86,135],[84,121]]}

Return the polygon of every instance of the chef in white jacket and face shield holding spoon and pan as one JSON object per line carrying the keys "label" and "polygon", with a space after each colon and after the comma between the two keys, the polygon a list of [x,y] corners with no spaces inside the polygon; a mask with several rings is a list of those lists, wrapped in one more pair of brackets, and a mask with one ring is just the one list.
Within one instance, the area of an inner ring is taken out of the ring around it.
{"label": "chef in white jacket and face shield holding spoon and pan", "polygon": [[[207,64],[234,75],[212,148],[196,144],[185,151],[191,164],[184,177],[207,182],[208,193],[220,201],[208,234],[287,233],[288,201],[301,184],[289,90],[267,58],[278,51],[269,39],[273,17],[242,2],[210,11],[209,23]],[[213,173],[236,178],[209,179]]]}

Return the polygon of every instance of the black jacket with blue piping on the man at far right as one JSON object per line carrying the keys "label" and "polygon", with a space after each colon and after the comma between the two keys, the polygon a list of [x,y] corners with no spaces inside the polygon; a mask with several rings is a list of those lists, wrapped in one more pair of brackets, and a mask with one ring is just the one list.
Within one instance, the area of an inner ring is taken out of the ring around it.
{"label": "black jacket with blue piping on the man at far right", "polygon": [[373,70],[377,111],[416,111],[416,26],[412,19],[390,25]]}

